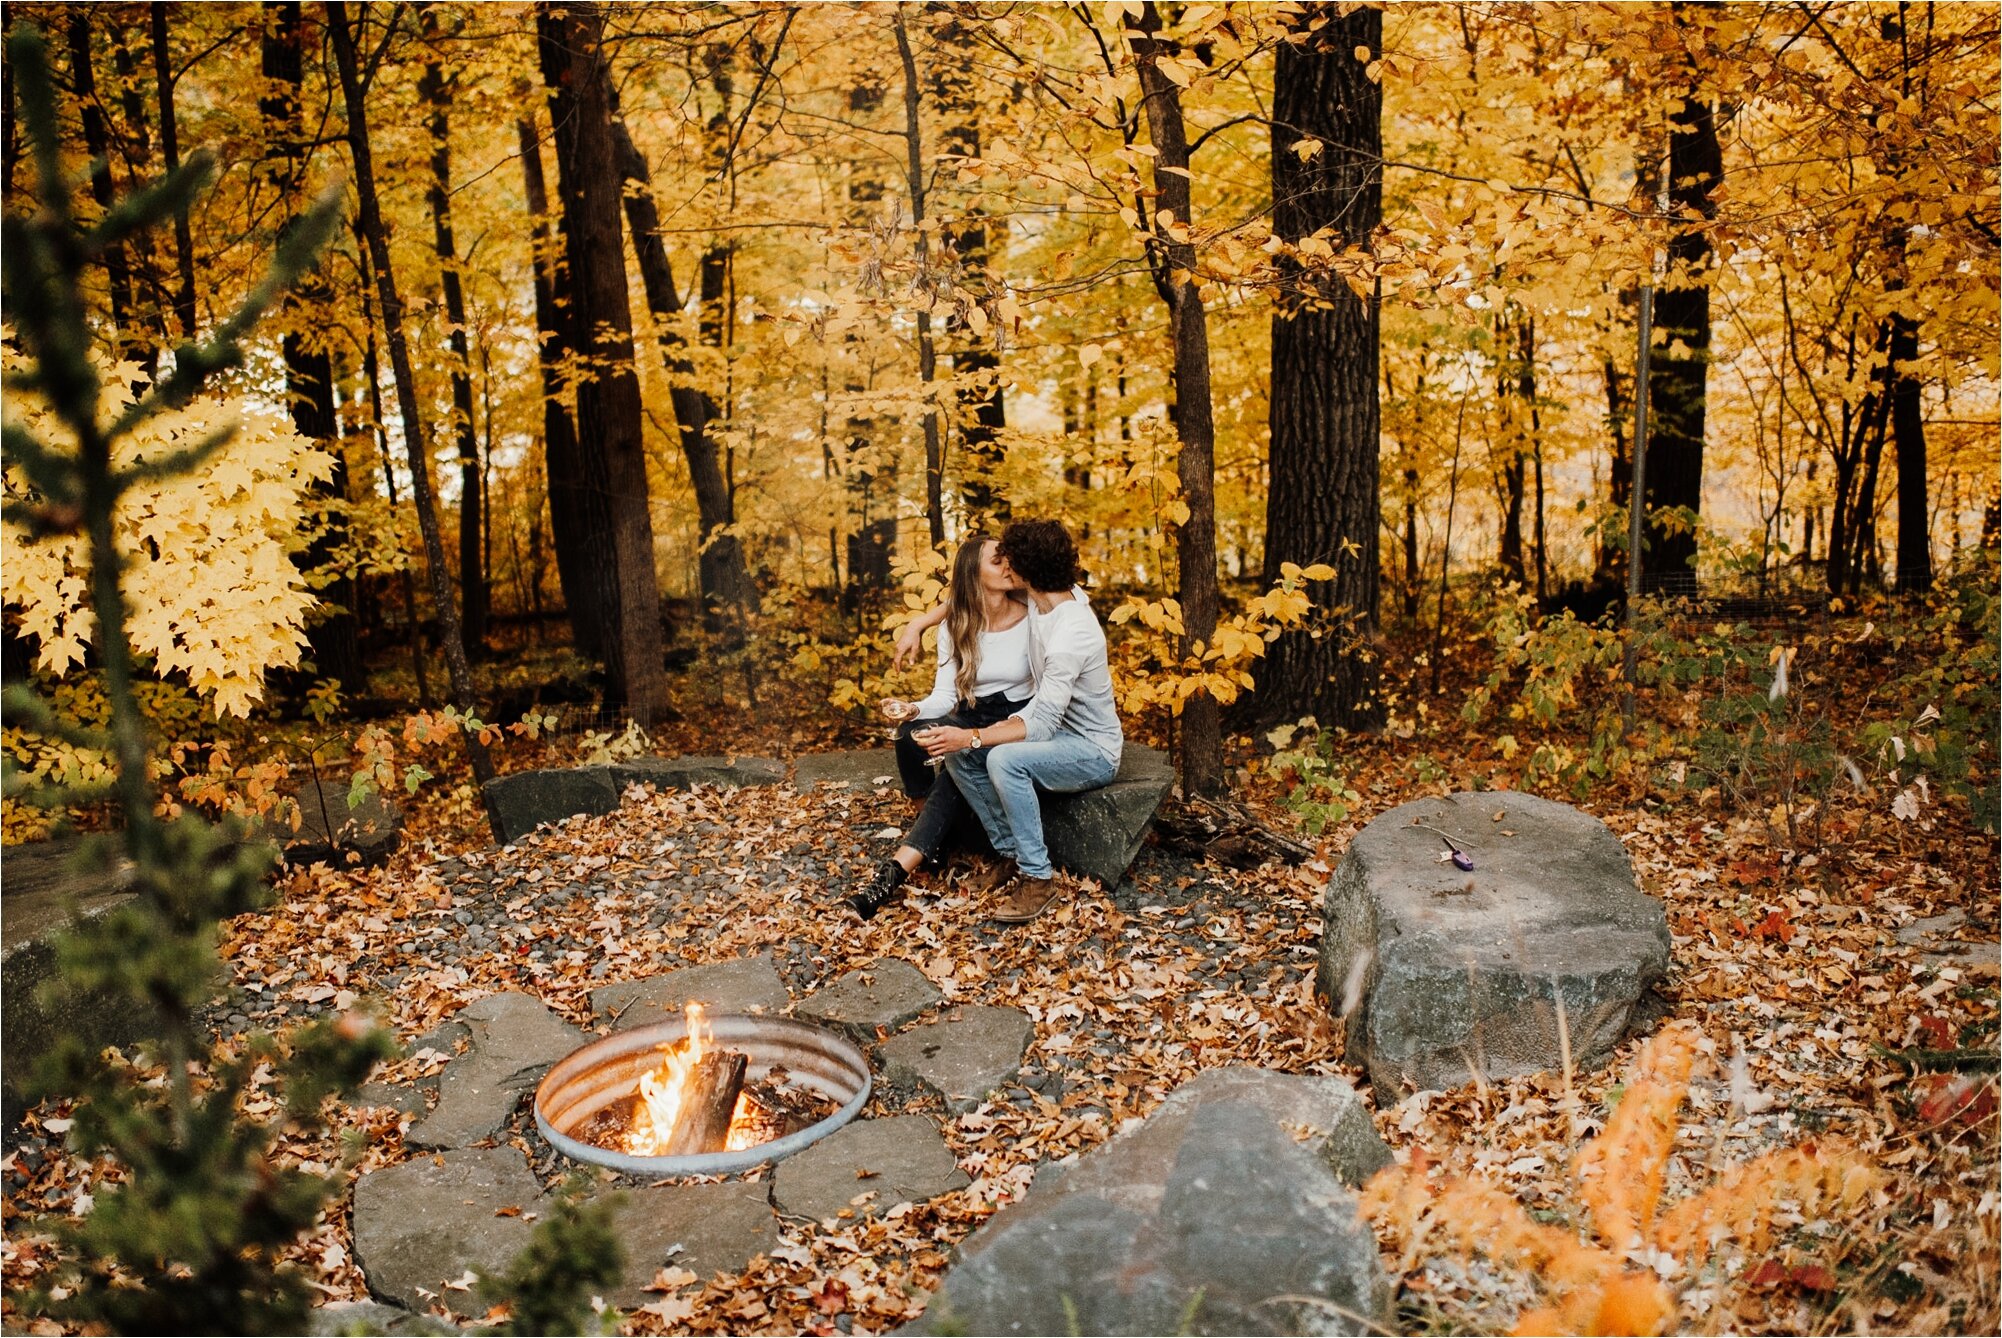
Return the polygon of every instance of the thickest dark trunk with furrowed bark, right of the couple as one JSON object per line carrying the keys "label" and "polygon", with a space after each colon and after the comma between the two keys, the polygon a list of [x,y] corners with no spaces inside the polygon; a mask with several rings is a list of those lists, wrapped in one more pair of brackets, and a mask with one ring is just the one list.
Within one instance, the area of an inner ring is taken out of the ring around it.
{"label": "thickest dark trunk with furrowed bark, right of the couple", "polygon": [[[1273,74],[1273,230],[1299,240],[1335,228],[1333,244],[1369,246],[1383,212],[1383,90],[1365,74],[1383,12],[1333,6],[1305,46],[1281,42]],[[1303,26],[1303,24],[1301,24]],[[1313,158],[1291,146],[1323,144]],[[1281,260],[1271,322],[1271,487],[1265,499],[1265,581],[1283,563],[1329,563],[1311,587],[1313,625],[1281,635],[1259,669],[1253,715],[1303,715],[1321,725],[1377,729],[1377,302],[1339,276]]]}

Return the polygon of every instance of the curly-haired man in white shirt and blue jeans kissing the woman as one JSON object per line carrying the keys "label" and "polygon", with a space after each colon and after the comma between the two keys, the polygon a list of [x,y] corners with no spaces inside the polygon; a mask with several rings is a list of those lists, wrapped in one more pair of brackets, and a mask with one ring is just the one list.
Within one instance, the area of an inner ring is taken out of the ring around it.
{"label": "curly-haired man in white shirt and blue jeans kissing the woman", "polygon": [[993,917],[1027,923],[1067,885],[1049,863],[1041,791],[1107,785],[1119,773],[1125,731],[1113,705],[1105,629],[1077,587],[1069,531],[1055,521],[1017,521],[1001,533],[1001,561],[1027,587],[1035,695],[997,725],[945,725],[921,743],[945,759],[993,847],[1015,865]]}

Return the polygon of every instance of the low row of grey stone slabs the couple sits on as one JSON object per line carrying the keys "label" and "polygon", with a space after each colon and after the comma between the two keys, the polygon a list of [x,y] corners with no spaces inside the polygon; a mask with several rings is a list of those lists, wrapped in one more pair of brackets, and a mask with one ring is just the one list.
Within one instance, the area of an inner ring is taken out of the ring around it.
{"label": "low row of grey stone slabs the couple sits on", "polygon": [[[486,781],[486,805],[505,841],[517,841],[541,823],[581,813],[611,813],[627,785],[779,785],[785,763],[767,757],[639,757],[609,767],[521,771]],[[801,791],[823,785],[877,789],[897,785],[897,753],[887,747],[807,753],[795,763]],[[1161,807],[1175,771],[1159,749],[1127,743],[1119,775],[1099,789],[1043,795],[1043,833],[1049,857],[1061,869],[1117,883]]]}

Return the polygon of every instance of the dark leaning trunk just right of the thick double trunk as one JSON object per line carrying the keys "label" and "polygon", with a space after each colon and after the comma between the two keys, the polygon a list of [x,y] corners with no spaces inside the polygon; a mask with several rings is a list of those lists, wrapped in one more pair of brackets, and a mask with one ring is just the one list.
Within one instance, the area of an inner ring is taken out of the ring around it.
{"label": "dark leaning trunk just right of the thick double trunk", "polygon": [[647,288],[647,310],[661,334],[661,359],[667,365],[669,399],[675,405],[675,423],[681,429],[681,455],[689,463],[689,485],[695,489],[695,515],[703,527],[701,587],[703,613],[715,619],[723,609],[741,609],[751,603],[751,573],[745,569],[743,545],[731,533],[737,523],[731,505],[731,489],[717,463],[717,443],[709,435],[709,425],[717,421],[717,403],[695,381],[695,363],[689,359],[687,341],[675,326],[683,310],[681,290],[675,286],[673,260],[667,242],[661,240],[661,208],[653,198],[653,170],[641,154],[625,122],[613,124],[613,138],[619,148],[619,170],[627,182],[639,190],[625,192],[627,228],[633,232],[633,254],[639,256],[641,286]]}

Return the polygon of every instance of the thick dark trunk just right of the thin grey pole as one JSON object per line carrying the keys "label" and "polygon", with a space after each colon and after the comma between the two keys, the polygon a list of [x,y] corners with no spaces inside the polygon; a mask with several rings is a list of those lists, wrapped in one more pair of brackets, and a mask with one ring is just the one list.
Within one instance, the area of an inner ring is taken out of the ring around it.
{"label": "thick dark trunk just right of the thin grey pole", "polygon": [[[1700,515],[1704,507],[1704,413],[1710,379],[1710,234],[1718,216],[1710,198],[1724,178],[1718,146],[1718,110],[1684,98],[1668,138],[1668,204],[1678,218],[1690,210],[1704,222],[1684,226],[1668,242],[1670,278],[1656,294],[1660,349],[1648,375],[1648,551],[1642,555],[1642,591],[1648,595],[1696,593],[1694,529],[1656,521],[1662,509]],[[1676,353],[1676,345],[1682,353]]]}

